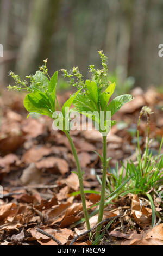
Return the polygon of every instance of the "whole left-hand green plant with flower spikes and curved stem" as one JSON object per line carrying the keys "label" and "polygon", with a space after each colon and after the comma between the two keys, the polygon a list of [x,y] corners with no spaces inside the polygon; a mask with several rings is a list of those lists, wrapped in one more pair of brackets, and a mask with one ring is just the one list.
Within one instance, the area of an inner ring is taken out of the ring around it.
{"label": "whole left-hand green plant with flower spikes and curved stem", "polygon": [[74,99],[80,92],[80,89],[76,93],[70,96],[70,98],[65,102],[64,106],[62,106],[61,113],[56,115],[55,103],[57,101],[56,86],[57,86],[58,71],[56,71],[52,77],[49,77],[48,69],[47,69],[47,60],[45,60],[44,62],[45,64],[40,67],[40,70],[37,71],[35,75],[26,77],[26,78],[29,78],[30,80],[29,86],[26,80],[21,81],[18,75],[15,75],[14,72],[10,72],[10,76],[14,78],[16,84],[15,86],[8,86],[8,89],[9,90],[14,89],[18,91],[26,90],[26,92],[28,92],[28,94],[24,99],[24,107],[30,113],[29,115],[34,113],[39,113],[41,115],[48,115],[54,120],[59,118],[64,123],[61,130],[67,136],[68,141],[70,142],[70,145],[71,145],[74,159],[76,160],[78,172],[75,172],[75,173],[78,175],[78,179],[79,179],[80,194],[81,194],[82,204],[83,204],[83,212],[84,212],[87,229],[89,230],[90,223],[89,223],[89,217],[86,209],[86,202],[85,202],[85,196],[84,196],[83,173],[80,168],[80,163],[79,163],[76,148],[74,147],[72,138],[69,133],[70,125],[68,121],[70,119],[70,115],[69,113],[67,113],[67,108],[70,108]]}

